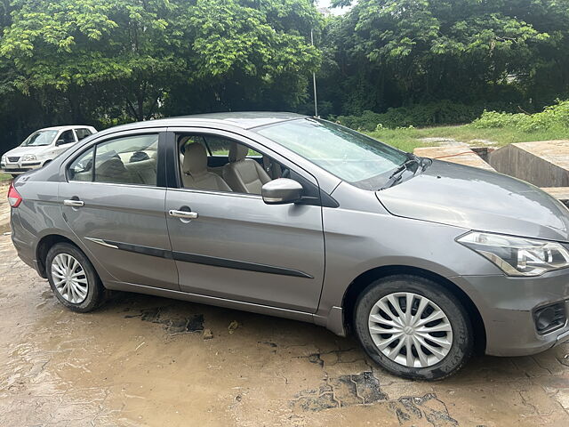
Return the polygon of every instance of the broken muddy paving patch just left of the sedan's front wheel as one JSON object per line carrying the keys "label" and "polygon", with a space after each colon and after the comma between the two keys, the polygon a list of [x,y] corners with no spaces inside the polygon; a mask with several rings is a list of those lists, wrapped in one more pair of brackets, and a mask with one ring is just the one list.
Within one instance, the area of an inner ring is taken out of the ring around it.
{"label": "broken muddy paving patch just left of the sedan's front wheel", "polygon": [[332,407],[369,405],[385,401],[388,396],[381,391],[380,382],[372,372],[357,375],[340,375],[330,378],[315,390],[301,391],[295,396],[291,407],[305,411],[322,411]]}

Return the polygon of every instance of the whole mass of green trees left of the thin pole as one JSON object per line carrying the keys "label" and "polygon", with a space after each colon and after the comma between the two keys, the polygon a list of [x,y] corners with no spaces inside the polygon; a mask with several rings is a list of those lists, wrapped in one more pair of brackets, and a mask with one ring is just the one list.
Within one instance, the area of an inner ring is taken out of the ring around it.
{"label": "whole mass of green trees left of the thin pole", "polygon": [[3,6],[0,111],[16,116],[0,115],[6,148],[43,125],[293,109],[307,101],[308,77],[320,64],[309,31],[322,17],[311,0]]}

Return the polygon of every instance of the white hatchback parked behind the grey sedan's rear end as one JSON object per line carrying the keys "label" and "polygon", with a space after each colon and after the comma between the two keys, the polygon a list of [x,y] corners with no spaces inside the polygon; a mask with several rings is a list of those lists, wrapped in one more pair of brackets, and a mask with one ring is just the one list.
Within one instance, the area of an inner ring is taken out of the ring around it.
{"label": "white hatchback parked behind the grey sedan's rear end", "polygon": [[11,149],[2,156],[0,168],[12,176],[42,167],[58,157],[63,151],[96,133],[92,126],[54,126],[32,133],[20,147]]}

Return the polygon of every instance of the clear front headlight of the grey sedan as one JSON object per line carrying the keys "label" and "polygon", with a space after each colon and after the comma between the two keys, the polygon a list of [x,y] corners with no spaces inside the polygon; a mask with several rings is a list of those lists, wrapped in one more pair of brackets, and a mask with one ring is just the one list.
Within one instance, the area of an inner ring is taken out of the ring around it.
{"label": "clear front headlight of the grey sedan", "polygon": [[456,241],[485,256],[509,276],[539,276],[569,267],[569,251],[557,242],[478,231]]}

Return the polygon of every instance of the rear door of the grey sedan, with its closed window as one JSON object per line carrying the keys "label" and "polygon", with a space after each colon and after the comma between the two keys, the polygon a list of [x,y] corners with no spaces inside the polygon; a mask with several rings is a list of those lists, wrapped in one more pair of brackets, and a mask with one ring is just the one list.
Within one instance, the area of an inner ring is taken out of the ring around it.
{"label": "rear door of the grey sedan, with its closed window", "polygon": [[71,230],[116,282],[178,290],[158,173],[163,136],[150,129],[96,140],[67,163],[59,197]]}

